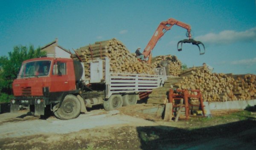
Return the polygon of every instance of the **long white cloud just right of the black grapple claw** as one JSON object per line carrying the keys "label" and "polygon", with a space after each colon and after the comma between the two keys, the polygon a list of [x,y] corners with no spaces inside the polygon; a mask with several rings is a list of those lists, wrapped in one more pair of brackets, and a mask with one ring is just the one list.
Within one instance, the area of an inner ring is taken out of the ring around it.
{"label": "long white cloud just right of the black grapple claw", "polygon": [[209,44],[230,44],[239,41],[252,42],[256,41],[256,27],[246,31],[224,30],[218,34],[209,33],[198,36],[195,39]]}

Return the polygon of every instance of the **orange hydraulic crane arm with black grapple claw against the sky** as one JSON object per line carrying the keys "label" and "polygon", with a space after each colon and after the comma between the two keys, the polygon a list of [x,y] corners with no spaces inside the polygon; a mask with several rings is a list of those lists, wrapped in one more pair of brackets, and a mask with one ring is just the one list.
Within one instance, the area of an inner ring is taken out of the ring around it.
{"label": "orange hydraulic crane arm with black grapple claw against the sky", "polygon": [[[175,20],[173,18],[170,18],[167,21],[162,21],[160,23],[160,25],[158,26],[157,30],[154,32],[154,35],[151,37],[151,40],[148,42],[148,45],[146,46],[146,48],[143,51],[144,57],[145,58],[149,57],[148,58],[148,62],[149,63],[151,62],[151,51],[153,50],[153,48],[157,44],[157,41],[161,37],[163,37],[163,34],[165,34],[166,31],[170,30],[173,25],[178,25],[178,26],[180,26],[182,28],[186,28],[187,29],[187,37],[189,38],[189,39],[180,40],[178,42],[178,44],[177,44],[178,51],[182,51],[182,44],[183,43],[192,43],[193,45],[197,45],[198,46],[200,55],[205,53],[205,48],[204,48],[204,52],[201,53],[201,49],[200,49],[200,46],[199,46],[201,44],[204,47],[204,44],[202,42],[200,42],[200,41],[196,41],[196,40],[192,39],[192,36],[191,36],[191,33],[190,33],[191,26],[186,24],[186,23],[183,23],[181,21],[178,21],[178,20]],[[179,48],[179,44],[180,44],[180,48]]]}

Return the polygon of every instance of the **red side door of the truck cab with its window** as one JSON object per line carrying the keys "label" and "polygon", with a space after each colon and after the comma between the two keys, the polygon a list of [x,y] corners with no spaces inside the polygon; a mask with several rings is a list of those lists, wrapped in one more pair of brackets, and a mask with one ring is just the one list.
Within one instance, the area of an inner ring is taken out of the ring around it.
{"label": "red side door of the truck cab with its window", "polygon": [[69,79],[69,75],[71,73],[68,72],[67,63],[68,62],[64,61],[54,61],[51,77],[51,92],[63,92],[74,90],[72,79]]}

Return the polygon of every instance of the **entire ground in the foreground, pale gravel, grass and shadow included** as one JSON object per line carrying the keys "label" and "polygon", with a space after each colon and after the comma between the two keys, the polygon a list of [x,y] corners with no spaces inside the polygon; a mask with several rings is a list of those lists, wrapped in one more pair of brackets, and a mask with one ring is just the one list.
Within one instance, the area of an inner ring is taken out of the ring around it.
{"label": "entire ground in the foreground, pale gravel, grass and shadow included", "polygon": [[90,110],[77,119],[0,114],[0,150],[255,150],[255,109],[166,122],[137,106]]}

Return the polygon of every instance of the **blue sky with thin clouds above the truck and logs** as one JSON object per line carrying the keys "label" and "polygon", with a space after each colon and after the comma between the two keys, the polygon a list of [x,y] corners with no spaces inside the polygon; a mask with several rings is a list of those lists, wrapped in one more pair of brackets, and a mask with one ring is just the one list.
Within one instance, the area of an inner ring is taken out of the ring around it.
{"label": "blue sky with thin clouds above the truck and logs", "polygon": [[153,56],[175,55],[188,67],[206,62],[216,73],[256,74],[256,0],[0,0],[0,56],[56,37],[71,51],[116,38],[134,53],[169,18],[191,25],[206,53],[191,44],[177,51],[186,29],[173,26]]}

